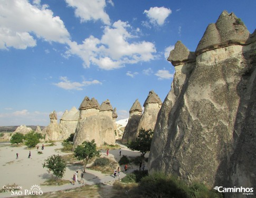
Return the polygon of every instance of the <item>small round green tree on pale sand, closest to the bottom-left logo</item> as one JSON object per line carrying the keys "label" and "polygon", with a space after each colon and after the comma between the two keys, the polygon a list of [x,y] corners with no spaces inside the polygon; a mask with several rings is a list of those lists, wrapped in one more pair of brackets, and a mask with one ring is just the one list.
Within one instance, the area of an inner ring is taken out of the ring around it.
{"label": "small round green tree on pale sand, closest to the bottom-left logo", "polygon": [[58,181],[60,178],[63,178],[63,175],[65,173],[67,163],[65,160],[61,158],[61,156],[58,155],[51,155],[48,159],[44,160],[43,168],[46,167],[49,170],[53,172],[53,174],[56,176],[56,181]]}

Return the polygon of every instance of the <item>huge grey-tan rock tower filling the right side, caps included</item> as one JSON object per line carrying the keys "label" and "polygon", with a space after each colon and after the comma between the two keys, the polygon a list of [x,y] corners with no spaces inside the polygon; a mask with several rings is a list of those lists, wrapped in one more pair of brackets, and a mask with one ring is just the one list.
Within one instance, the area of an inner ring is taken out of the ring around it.
{"label": "huge grey-tan rock tower filling the right side, caps included", "polygon": [[150,173],[211,187],[255,187],[255,51],[255,31],[250,34],[226,11],[206,28],[195,53],[176,43],[168,58],[175,75],[158,114]]}

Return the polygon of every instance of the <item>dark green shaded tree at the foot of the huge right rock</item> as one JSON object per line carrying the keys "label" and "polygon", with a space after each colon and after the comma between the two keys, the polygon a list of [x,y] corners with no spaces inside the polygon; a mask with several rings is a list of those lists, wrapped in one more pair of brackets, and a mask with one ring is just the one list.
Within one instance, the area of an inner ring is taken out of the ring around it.
{"label": "dark green shaded tree at the foot of the huge right rock", "polygon": [[138,138],[134,142],[130,142],[128,144],[128,148],[132,151],[140,151],[142,156],[144,157],[147,151],[150,151],[150,145],[153,138],[153,133],[151,129],[145,130],[140,129]]}

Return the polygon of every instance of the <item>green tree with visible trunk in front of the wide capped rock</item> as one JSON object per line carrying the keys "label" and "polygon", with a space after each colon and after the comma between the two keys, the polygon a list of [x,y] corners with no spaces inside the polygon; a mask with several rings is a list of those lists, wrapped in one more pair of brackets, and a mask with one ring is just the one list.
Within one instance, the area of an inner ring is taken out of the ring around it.
{"label": "green tree with visible trunk in front of the wide capped rock", "polygon": [[82,145],[78,145],[74,150],[74,157],[83,160],[83,172],[86,172],[86,165],[89,159],[100,157],[100,151],[96,149],[96,143],[92,141],[84,141]]}

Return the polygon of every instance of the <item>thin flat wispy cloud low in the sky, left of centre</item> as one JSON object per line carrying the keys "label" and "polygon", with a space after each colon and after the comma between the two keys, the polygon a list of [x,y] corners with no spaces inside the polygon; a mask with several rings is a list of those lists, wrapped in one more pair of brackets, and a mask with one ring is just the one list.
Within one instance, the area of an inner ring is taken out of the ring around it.
{"label": "thin flat wispy cloud low in the sky, left of centre", "polygon": [[84,86],[89,86],[89,85],[94,85],[94,84],[102,84],[99,80],[92,80],[92,81],[82,81],[82,83],[80,82],[71,82],[70,80],[68,80],[67,77],[60,77],[60,82],[53,84],[57,87],[60,87],[62,89],[67,89],[67,90],[83,90]]}

